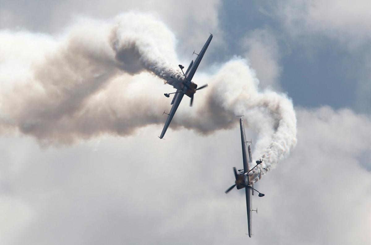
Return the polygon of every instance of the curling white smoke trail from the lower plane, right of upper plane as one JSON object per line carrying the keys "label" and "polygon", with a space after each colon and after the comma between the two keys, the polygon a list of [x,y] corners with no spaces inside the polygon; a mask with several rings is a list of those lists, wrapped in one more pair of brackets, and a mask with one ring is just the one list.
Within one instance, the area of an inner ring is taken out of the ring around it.
{"label": "curling white smoke trail from the lower plane, right of upper plane", "polygon": [[183,115],[178,121],[187,128],[209,132],[238,125],[235,115],[244,114],[245,127],[258,133],[253,155],[256,160],[263,160],[253,176],[256,182],[296,145],[292,101],[285,94],[259,92],[259,81],[244,59],[235,58],[223,64],[216,74],[206,79],[211,85],[205,100],[200,102],[201,107],[195,114]]}

